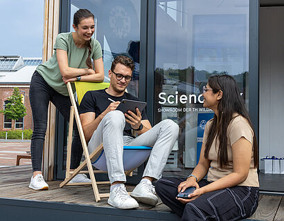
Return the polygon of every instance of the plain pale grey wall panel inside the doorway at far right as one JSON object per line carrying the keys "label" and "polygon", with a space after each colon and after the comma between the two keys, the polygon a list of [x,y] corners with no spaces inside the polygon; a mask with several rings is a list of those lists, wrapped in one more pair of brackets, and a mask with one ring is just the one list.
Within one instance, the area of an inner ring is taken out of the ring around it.
{"label": "plain pale grey wall panel inside the doorway at far right", "polygon": [[260,157],[284,156],[284,7],[260,8]]}

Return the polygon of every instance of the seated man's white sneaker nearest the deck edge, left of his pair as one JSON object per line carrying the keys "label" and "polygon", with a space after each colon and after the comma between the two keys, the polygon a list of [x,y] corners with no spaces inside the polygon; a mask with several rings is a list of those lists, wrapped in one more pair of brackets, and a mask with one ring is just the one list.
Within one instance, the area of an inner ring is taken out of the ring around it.
{"label": "seated man's white sneaker nearest the deck edge, left of his pair", "polygon": [[128,195],[125,186],[118,186],[109,193],[107,203],[118,209],[134,209],[138,208],[139,204]]}

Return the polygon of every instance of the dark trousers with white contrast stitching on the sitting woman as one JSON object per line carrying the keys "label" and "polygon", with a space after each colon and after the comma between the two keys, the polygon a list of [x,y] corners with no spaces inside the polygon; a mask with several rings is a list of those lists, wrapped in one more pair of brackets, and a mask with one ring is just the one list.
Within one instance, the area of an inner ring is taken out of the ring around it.
{"label": "dark trousers with white contrast stitching on the sitting woman", "polygon": [[[251,216],[258,206],[258,187],[233,186],[200,195],[182,204],[176,200],[177,186],[185,178],[167,177],[156,182],[156,191],[164,204],[177,213],[181,220],[241,220]],[[210,184],[200,180],[199,187]]]}

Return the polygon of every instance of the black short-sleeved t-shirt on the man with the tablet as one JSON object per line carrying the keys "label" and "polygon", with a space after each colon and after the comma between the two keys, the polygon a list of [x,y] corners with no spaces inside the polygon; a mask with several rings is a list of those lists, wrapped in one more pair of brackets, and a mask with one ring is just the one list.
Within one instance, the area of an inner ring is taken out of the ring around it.
{"label": "black short-sleeved t-shirt on the man with the tablet", "polygon": [[[133,95],[130,95],[129,93],[124,93],[121,97],[114,97],[112,95],[109,95],[105,92],[105,89],[103,90],[89,90],[87,93],[85,93],[82,102],[80,104],[79,113],[87,113],[87,112],[94,112],[96,113],[96,118],[98,115],[103,113],[105,109],[111,104],[112,102],[108,99],[113,99],[115,102],[121,102],[122,99],[132,99],[135,101],[139,101],[137,97],[134,97]],[[148,119],[145,109],[141,113],[142,120]],[[132,135],[132,129],[130,124],[125,122],[125,128],[123,131],[123,135],[131,136]]]}

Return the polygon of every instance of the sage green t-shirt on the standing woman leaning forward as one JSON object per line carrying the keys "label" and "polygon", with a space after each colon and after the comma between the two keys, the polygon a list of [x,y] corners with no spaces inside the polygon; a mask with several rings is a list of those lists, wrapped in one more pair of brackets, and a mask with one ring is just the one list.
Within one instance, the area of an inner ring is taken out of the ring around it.
{"label": "sage green t-shirt on the standing woman leaning forward", "polygon": [[[72,32],[67,32],[57,35],[53,49],[55,50],[53,57],[44,62],[44,64],[37,66],[37,72],[42,75],[46,83],[54,90],[62,95],[69,96],[66,84],[64,84],[62,80],[62,75],[59,70],[56,49],[62,49],[67,52],[69,67],[88,68],[86,64],[88,48],[78,48],[74,43]],[[91,49],[92,59],[96,60],[103,57],[102,48],[97,40],[91,39]],[[71,85],[74,91],[74,85]]]}

